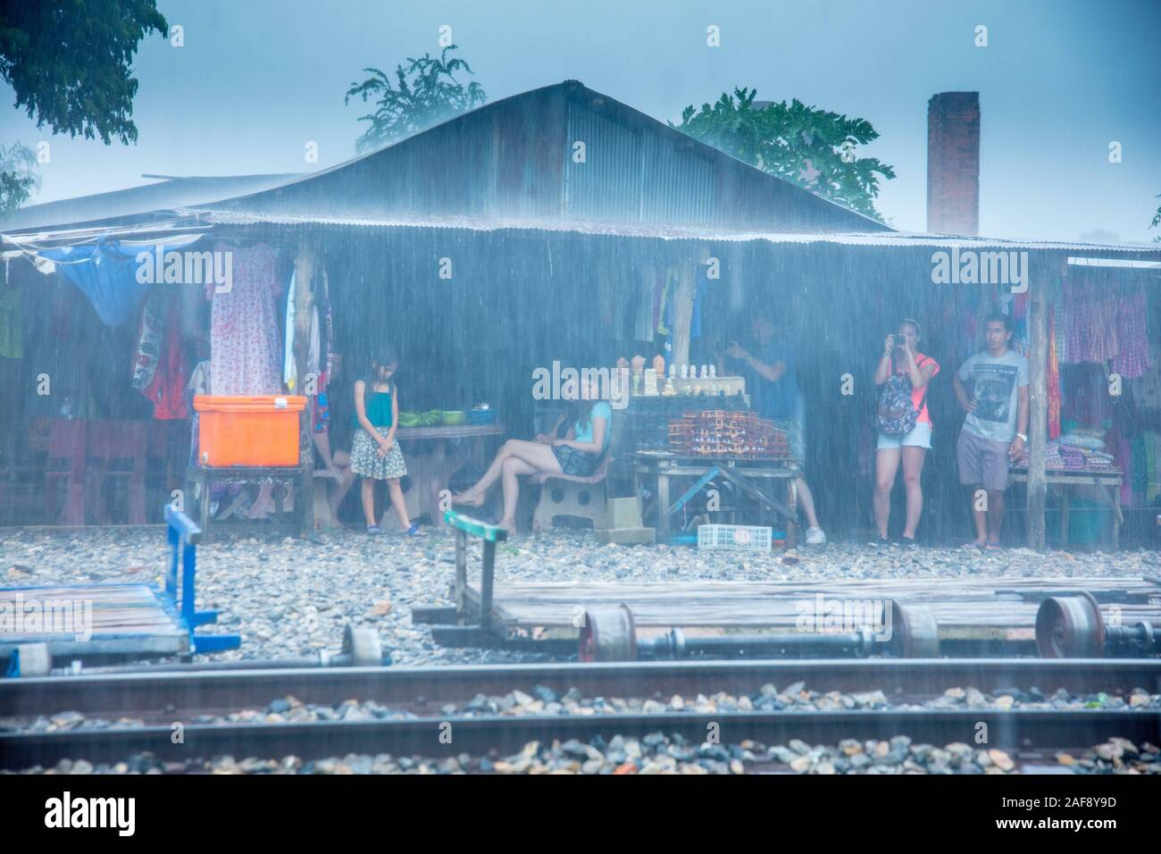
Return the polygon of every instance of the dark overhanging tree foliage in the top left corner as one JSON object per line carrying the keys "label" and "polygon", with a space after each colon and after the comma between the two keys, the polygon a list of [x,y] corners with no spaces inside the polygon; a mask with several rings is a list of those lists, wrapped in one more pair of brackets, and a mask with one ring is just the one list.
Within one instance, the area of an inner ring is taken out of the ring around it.
{"label": "dark overhanging tree foliage in the top left corner", "polygon": [[137,139],[137,44],[170,29],[156,0],[0,0],[0,78],[36,127]]}

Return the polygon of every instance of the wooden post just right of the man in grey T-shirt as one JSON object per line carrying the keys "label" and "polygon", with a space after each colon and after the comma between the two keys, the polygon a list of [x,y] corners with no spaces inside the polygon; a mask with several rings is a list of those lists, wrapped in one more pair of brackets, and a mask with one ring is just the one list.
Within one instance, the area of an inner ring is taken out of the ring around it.
{"label": "wooden post just right of the man in grey T-shirt", "polygon": [[1047,261],[1039,275],[1030,277],[1031,303],[1027,315],[1029,339],[1029,454],[1027,454],[1027,544],[1046,548],[1044,508],[1047,482],[1044,478],[1044,451],[1048,443],[1048,277]]}

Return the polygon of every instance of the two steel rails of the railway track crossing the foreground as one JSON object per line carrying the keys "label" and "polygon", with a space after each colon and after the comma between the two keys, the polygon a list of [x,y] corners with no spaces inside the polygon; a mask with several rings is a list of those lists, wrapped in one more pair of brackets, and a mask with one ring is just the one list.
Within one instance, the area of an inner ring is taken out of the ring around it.
{"label": "two steel rails of the railway track crossing the foreground", "polygon": [[[880,690],[890,708],[848,710],[637,710],[590,715],[467,715],[476,695],[504,695],[540,687],[585,697],[693,697],[726,691],[743,696],[763,684],[806,682],[815,691]],[[945,745],[973,741],[979,725],[988,745],[1026,755],[1080,752],[1110,738],[1161,742],[1161,711],[1130,708],[897,708],[949,688],[983,692],[1038,688],[1045,696],[1161,692],[1161,661],[1137,660],[866,660],[779,662],[649,662],[612,665],[478,666],[455,668],[338,668],[255,672],[161,672],[58,676],[0,682],[0,718],[78,711],[86,717],[131,716],[144,726],[0,732],[0,768],[51,766],[60,759],[115,762],[149,752],[161,760],[192,756],[344,754],[450,756],[506,754],[532,741],[642,738],[677,734],[701,744],[714,732],[723,744],[767,745],[800,739],[889,739]],[[265,709],[294,696],[309,704],[375,701],[414,717],[303,723],[192,723],[199,715]],[[456,709],[447,712],[445,706]],[[174,740],[172,722],[182,722]]]}

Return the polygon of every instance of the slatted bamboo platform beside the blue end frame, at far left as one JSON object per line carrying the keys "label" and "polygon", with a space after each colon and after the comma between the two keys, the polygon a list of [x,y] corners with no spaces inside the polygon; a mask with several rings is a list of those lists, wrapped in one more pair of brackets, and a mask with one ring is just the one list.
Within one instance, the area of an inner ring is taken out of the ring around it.
{"label": "slatted bamboo platform beside the blue end frame, at far left", "polygon": [[[28,631],[28,622],[34,631]],[[0,588],[0,658],[21,644],[53,658],[185,655],[189,630],[146,584]]]}

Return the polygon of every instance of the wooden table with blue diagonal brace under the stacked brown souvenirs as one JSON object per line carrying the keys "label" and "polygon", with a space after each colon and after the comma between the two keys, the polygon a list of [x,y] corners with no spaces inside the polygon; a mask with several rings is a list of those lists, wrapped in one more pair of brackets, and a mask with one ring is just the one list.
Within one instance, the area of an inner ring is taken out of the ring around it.
{"label": "wooden table with blue diagonal brace under the stacked brown souvenirs", "polygon": [[[727,458],[691,458],[663,451],[637,451],[633,455],[633,480],[639,498],[644,507],[642,481],[646,478],[657,480],[657,541],[669,543],[669,517],[680,509],[690,498],[713,478],[721,476],[730,481],[742,493],[757,498],[770,510],[786,517],[786,547],[793,548],[796,543],[798,487],[796,481],[802,469],[799,460],[745,460]],[[670,504],[669,479],[695,478],[697,482],[676,502]],[[786,481],[786,504],[766,495],[755,483],[748,481]]]}

